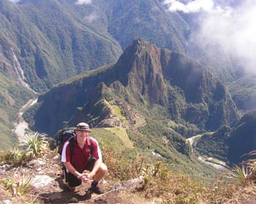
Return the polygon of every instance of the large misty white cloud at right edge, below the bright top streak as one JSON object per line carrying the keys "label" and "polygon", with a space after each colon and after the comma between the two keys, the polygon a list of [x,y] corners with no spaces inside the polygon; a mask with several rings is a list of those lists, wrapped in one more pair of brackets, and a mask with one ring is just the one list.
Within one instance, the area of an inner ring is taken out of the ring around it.
{"label": "large misty white cloud at right edge, below the bright top streak", "polygon": [[[224,12],[225,11],[225,12]],[[217,45],[256,71],[256,1],[244,1],[227,15],[227,9],[200,16],[200,30],[194,39],[201,46]]]}

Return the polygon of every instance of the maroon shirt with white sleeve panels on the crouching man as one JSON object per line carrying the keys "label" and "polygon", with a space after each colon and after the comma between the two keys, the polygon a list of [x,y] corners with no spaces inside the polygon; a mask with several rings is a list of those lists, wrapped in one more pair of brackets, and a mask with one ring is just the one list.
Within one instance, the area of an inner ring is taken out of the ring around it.
{"label": "maroon shirt with white sleeve panels on the crouching man", "polygon": [[[99,149],[98,142],[91,138],[91,147],[92,147],[92,156],[97,160],[102,160],[102,154]],[[78,146],[78,142],[75,138],[75,145],[72,154],[72,161],[70,161],[70,149],[69,149],[69,141],[64,143],[62,154],[61,154],[61,162],[70,162],[72,166],[78,170],[78,172],[82,173],[88,163],[88,159],[91,155],[90,149],[90,141],[89,138],[86,139],[86,144],[83,146],[83,149],[80,149]]]}

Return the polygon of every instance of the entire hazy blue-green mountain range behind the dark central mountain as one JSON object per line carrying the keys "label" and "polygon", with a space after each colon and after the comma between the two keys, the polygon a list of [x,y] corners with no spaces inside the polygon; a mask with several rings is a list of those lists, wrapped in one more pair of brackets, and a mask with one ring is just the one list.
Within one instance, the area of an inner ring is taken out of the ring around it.
{"label": "entire hazy blue-green mountain range behind the dark central mountain", "polygon": [[24,82],[44,93],[71,76],[116,63],[122,48],[138,37],[184,50],[189,26],[159,1],[76,2],[0,1],[0,123],[7,141],[15,114],[33,95],[20,98]]}

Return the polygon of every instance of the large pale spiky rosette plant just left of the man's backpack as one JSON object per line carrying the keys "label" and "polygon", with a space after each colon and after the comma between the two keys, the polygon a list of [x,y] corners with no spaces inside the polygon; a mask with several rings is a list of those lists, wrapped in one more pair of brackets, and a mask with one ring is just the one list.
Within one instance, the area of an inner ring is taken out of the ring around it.
{"label": "large pale spiky rosette plant just left of the man's backpack", "polygon": [[46,134],[43,133],[26,133],[20,145],[26,148],[26,154],[30,157],[36,157],[42,154],[42,151],[48,146]]}

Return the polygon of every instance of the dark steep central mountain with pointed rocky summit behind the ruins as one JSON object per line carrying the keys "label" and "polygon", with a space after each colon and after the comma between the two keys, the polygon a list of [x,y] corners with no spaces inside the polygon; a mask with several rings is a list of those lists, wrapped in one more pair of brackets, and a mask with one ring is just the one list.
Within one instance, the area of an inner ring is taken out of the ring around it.
{"label": "dark steep central mountain with pointed rocky summit behind the ruins", "polygon": [[155,105],[162,106],[170,119],[211,130],[233,125],[239,118],[225,87],[199,63],[138,39],[115,65],[83,74],[42,95],[35,127],[52,134],[79,111],[84,116],[80,119],[88,120],[88,114],[97,117],[100,109],[95,104],[108,97],[149,112]]}

